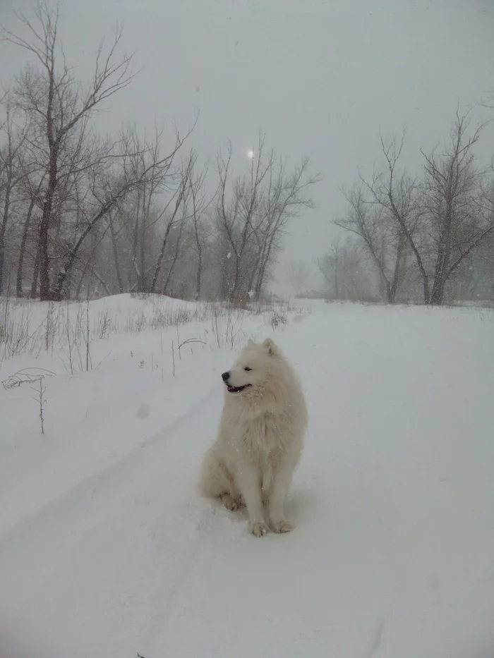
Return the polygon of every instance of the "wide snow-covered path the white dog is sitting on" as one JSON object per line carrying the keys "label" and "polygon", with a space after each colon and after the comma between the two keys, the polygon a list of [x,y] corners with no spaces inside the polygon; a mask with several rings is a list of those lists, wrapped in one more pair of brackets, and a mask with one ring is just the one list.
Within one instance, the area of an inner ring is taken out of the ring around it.
{"label": "wide snow-covered path the white dog is sitting on", "polygon": [[222,392],[192,381],[181,420],[0,537],[1,658],[491,658],[491,334],[332,306],[275,335],[311,427],[296,530],[260,540],[195,492]]}

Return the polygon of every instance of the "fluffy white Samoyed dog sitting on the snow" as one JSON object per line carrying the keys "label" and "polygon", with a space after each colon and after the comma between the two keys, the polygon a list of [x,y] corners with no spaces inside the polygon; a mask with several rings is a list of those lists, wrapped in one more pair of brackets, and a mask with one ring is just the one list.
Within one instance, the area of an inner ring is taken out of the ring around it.
{"label": "fluffy white Samoyed dog sitting on the snow", "polygon": [[268,527],[290,532],[283,504],[308,422],[299,379],[271,339],[248,341],[222,379],[223,413],[203,461],[201,493],[231,511],[246,506],[255,537]]}

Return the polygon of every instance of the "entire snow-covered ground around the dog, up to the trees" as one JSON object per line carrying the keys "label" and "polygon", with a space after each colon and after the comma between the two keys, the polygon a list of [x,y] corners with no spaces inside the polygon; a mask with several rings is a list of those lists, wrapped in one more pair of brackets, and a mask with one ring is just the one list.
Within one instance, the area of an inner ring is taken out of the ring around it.
{"label": "entire snow-covered ground around the dog, up to the trees", "polygon": [[[31,329],[0,370],[1,658],[493,657],[492,310],[299,306],[9,310]],[[267,335],[311,422],[296,529],[256,539],[195,485],[231,347]],[[9,379],[41,368],[44,434],[39,382]]]}

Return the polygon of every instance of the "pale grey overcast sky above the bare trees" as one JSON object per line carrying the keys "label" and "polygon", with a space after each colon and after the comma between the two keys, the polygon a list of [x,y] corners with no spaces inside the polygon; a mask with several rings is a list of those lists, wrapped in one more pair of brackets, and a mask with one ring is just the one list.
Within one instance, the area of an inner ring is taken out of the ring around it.
{"label": "pale grey overcast sky above the bare trees", "polygon": [[[29,6],[0,0],[1,21],[15,28],[13,8]],[[214,156],[231,139],[237,171],[259,127],[288,162],[312,155],[318,208],[291,226],[285,262],[325,250],[338,187],[373,165],[379,128],[392,135],[406,123],[416,167],[421,147],[447,137],[457,103],[474,106],[494,89],[493,0],[65,0],[60,33],[81,76],[120,21],[143,71],[100,116],[103,130],[167,121],[172,134],[199,110],[191,143]],[[23,55],[1,49],[5,85]],[[484,148],[487,157],[494,140]]]}

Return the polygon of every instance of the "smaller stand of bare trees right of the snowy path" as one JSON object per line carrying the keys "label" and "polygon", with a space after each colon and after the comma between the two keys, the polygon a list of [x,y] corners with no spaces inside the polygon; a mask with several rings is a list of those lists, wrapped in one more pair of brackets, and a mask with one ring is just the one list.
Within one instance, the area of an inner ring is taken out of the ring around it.
{"label": "smaller stand of bare trees right of the snowy path", "polygon": [[493,168],[478,164],[485,125],[457,111],[441,149],[423,152],[422,171],[401,166],[405,131],[380,136],[381,164],[342,190],[339,236],[318,261],[327,296],[421,301],[494,298]]}

